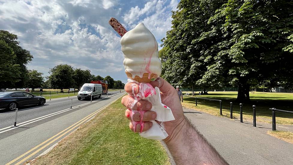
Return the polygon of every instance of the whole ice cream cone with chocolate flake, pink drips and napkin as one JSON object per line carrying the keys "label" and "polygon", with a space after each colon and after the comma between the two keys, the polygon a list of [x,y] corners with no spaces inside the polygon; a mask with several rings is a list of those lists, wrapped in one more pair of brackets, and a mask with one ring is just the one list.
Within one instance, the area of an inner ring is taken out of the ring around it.
{"label": "whole ice cream cone with chocolate flake, pink drips and napkin", "polygon": [[[131,105],[127,105],[127,107],[130,107],[129,115],[132,119],[133,130],[136,130],[136,125],[140,124],[140,136],[154,140],[165,139],[168,134],[164,129],[163,122],[174,120],[174,116],[171,109],[162,103],[160,89],[158,87],[153,88],[149,84],[151,79],[159,77],[162,71],[162,63],[158,57],[158,43],[154,35],[143,23],[139,23],[128,32],[115,18],[111,18],[109,24],[122,37],[120,43],[124,53],[123,64],[125,73],[129,78],[128,82],[134,82],[139,85],[139,92],[135,93],[134,88],[136,85],[132,83],[134,100],[129,102]],[[132,109],[139,100],[151,102],[151,111],[157,113],[156,121],[151,121],[153,123],[152,127],[144,132],[142,132],[144,128],[142,119],[145,111]],[[133,120],[135,113],[140,113],[141,120],[139,122]]]}

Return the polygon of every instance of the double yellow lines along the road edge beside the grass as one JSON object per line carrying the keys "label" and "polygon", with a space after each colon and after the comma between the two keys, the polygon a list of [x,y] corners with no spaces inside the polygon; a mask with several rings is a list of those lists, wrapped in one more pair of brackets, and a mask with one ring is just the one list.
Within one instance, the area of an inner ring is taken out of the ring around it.
{"label": "double yellow lines along the road edge beside the grass", "polygon": [[[122,95],[123,96],[123,95]],[[121,97],[122,97],[121,96]],[[119,98],[121,98],[119,97]],[[28,153],[32,152],[33,150],[37,149],[38,147],[42,146],[43,144],[47,143],[49,140],[52,140],[53,138],[57,137],[58,135],[62,134],[64,131],[68,130],[69,128],[73,127],[74,125],[78,124],[82,124],[84,121],[86,121],[88,118],[90,118],[91,116],[93,116],[95,113],[100,112],[101,110],[105,109],[106,107],[108,107],[110,104],[114,103],[115,101],[117,101],[119,98],[117,98],[116,100],[112,101],[111,103],[107,104],[106,106],[100,108],[99,110],[91,113],[90,115],[84,117],[83,119],[79,120],[78,122],[74,123],[73,125],[67,127],[66,129],[64,129],[63,131],[59,132],[58,134],[52,136],[51,138],[49,138],[48,140],[44,141],[43,143],[35,146],[34,148],[28,150],[27,152],[25,152],[24,154],[20,155],[19,157],[13,159],[12,161],[8,162],[6,165],[12,164],[13,162],[17,161],[18,159],[24,157],[25,155],[27,155]],[[57,137],[55,140],[52,140],[50,143],[46,144],[45,146],[41,147],[40,149],[38,149],[37,151],[33,152],[32,154],[28,155],[27,157],[25,157],[24,159],[22,159],[21,161],[19,161],[17,164],[21,164],[22,162],[26,161],[28,158],[30,158],[31,156],[33,156],[35,153],[39,152],[40,150],[42,150],[43,148],[45,148],[46,146],[48,146],[49,144],[51,144],[52,142],[56,141],[57,139],[59,139],[60,137],[64,136],[65,134],[67,134],[69,131],[71,131],[72,129],[76,128],[78,125],[74,126],[73,128],[71,128],[70,130],[66,131],[64,134],[60,135],[59,137]]]}

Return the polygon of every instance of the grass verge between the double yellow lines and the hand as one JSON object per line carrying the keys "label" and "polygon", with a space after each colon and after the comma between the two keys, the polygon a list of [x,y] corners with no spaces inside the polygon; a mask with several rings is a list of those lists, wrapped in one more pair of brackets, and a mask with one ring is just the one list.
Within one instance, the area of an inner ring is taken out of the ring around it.
{"label": "grass verge between the double yellow lines and the hand", "polygon": [[170,164],[160,141],[130,131],[124,111],[120,98],[32,164]]}

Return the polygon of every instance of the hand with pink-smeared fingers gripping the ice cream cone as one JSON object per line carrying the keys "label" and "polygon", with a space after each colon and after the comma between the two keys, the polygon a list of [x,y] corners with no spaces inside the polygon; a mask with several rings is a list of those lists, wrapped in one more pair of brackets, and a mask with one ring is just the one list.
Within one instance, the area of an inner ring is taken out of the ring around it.
{"label": "hand with pink-smeared fingers gripping the ice cream cone", "polygon": [[[178,93],[172,85],[170,85],[162,78],[157,78],[155,81],[151,81],[150,84],[153,87],[160,88],[162,103],[172,110],[173,116],[175,118],[175,120],[164,122],[165,130],[169,134],[169,136],[164,141],[168,142],[177,134],[179,134],[181,126],[177,126],[184,124],[183,121],[185,120],[182,106],[180,104],[180,101],[178,100]],[[136,103],[135,99],[132,96],[133,92],[134,94],[139,93],[139,85],[135,82],[127,83],[124,89],[129,95],[124,96],[121,100],[121,103],[125,107],[127,107],[127,110],[125,111],[125,116],[127,117],[127,119],[131,120],[129,124],[130,129],[134,132],[147,131],[152,126],[152,123],[149,121],[156,118],[156,113],[153,111],[149,111],[151,110],[151,103],[144,100],[138,101]],[[136,124],[135,122],[139,122],[141,121],[141,119],[143,121],[142,124],[144,124],[142,130],[140,130],[140,124],[137,124],[136,128],[134,127],[134,125]],[[160,122],[158,123],[160,124]]]}

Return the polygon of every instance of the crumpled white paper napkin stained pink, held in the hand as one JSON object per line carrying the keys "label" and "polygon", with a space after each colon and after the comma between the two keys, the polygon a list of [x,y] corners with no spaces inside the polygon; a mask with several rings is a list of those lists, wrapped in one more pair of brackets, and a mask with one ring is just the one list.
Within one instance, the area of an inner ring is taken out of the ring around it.
{"label": "crumpled white paper napkin stained pink, held in the hand", "polygon": [[[128,82],[135,82],[135,81],[128,79]],[[175,120],[171,109],[162,103],[160,89],[158,87],[153,88],[150,84],[138,83],[138,82],[136,83],[139,84],[139,94],[136,94],[135,98],[147,100],[151,102],[152,104],[151,111],[154,111],[157,113],[156,120],[161,122],[161,125],[159,125],[156,121],[152,120],[151,121],[153,123],[152,127],[148,131],[139,133],[140,136],[147,139],[154,139],[154,140],[166,139],[166,137],[168,137],[168,134],[164,129],[163,122]],[[149,91],[150,88],[152,88],[151,92],[148,92],[148,94],[145,95],[145,90]],[[136,104],[136,101],[134,104]]]}

